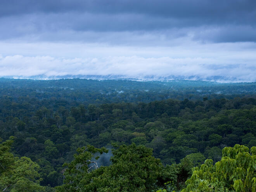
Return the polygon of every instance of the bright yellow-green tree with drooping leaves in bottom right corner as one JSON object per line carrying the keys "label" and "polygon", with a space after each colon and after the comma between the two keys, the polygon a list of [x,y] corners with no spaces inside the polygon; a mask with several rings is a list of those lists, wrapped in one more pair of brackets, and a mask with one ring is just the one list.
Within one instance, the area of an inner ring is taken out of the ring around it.
{"label": "bright yellow-green tree with drooping leaves in bottom right corner", "polygon": [[186,181],[182,192],[255,192],[256,190],[256,147],[236,144],[225,147],[222,158],[215,165],[207,159]]}

